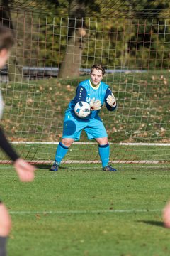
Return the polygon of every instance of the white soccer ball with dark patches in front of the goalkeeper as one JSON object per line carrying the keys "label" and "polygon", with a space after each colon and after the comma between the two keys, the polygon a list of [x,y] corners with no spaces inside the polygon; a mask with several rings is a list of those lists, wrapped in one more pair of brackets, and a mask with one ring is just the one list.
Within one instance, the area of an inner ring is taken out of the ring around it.
{"label": "white soccer ball with dark patches in front of the goalkeeper", "polygon": [[77,102],[77,104],[74,107],[74,112],[79,118],[88,117],[91,113],[89,103],[83,101]]}

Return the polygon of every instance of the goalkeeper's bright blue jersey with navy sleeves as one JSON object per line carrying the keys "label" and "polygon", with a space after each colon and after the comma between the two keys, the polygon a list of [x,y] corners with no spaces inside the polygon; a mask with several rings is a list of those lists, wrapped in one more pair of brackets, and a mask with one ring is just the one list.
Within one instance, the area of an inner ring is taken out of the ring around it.
{"label": "goalkeeper's bright blue jersey with navy sleeves", "polygon": [[[113,111],[115,110],[115,107],[111,107],[106,102],[106,98],[108,97],[108,95],[111,94],[111,88],[108,85],[106,85],[106,83],[101,81],[98,86],[94,87],[91,84],[91,80],[84,80],[83,82],[79,83],[76,91],[76,96],[73,100],[71,100],[71,102],[69,102],[69,107],[67,111],[70,111],[73,116],[76,116],[76,114],[74,113],[74,107],[77,104],[77,102],[85,101],[90,103],[90,101],[93,98],[95,98],[95,100],[100,100],[101,105],[103,105],[105,102],[107,109],[109,111]],[[99,112],[100,110],[93,110],[91,111],[91,114],[88,117],[85,117],[84,119],[94,118],[96,117],[96,115],[98,115]]]}

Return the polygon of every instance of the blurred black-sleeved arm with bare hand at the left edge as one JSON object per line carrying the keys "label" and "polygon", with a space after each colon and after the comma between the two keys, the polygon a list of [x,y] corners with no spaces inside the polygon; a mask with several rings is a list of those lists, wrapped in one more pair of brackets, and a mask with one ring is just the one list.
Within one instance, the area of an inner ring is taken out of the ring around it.
{"label": "blurred black-sleeved arm with bare hand at the left edge", "polygon": [[6,136],[3,130],[1,129],[1,127],[0,127],[0,146],[1,146],[1,149],[3,149],[4,152],[13,161],[13,166],[16,169],[16,173],[18,174],[20,181],[25,181],[25,182],[33,181],[35,167],[31,164],[28,164],[26,161],[24,161],[18,156],[16,151],[14,151],[13,147],[6,139]]}

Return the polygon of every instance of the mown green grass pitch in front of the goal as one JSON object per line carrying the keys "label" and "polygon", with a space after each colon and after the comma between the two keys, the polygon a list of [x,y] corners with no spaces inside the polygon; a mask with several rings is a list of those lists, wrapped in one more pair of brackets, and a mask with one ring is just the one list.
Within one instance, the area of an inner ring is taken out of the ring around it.
{"label": "mown green grass pitch in front of the goal", "polygon": [[0,166],[1,199],[11,213],[9,256],[170,255],[162,209],[170,199],[170,166],[62,164],[38,166],[33,183],[20,183]]}

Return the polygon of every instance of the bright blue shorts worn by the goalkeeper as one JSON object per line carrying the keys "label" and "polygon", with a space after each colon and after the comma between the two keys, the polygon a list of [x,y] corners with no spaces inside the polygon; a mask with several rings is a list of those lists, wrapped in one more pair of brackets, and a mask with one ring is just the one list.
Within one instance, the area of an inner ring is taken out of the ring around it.
{"label": "bright blue shorts worn by the goalkeeper", "polygon": [[108,137],[101,118],[96,116],[92,119],[80,119],[68,110],[65,112],[62,138],[80,139],[84,130],[88,139]]}

